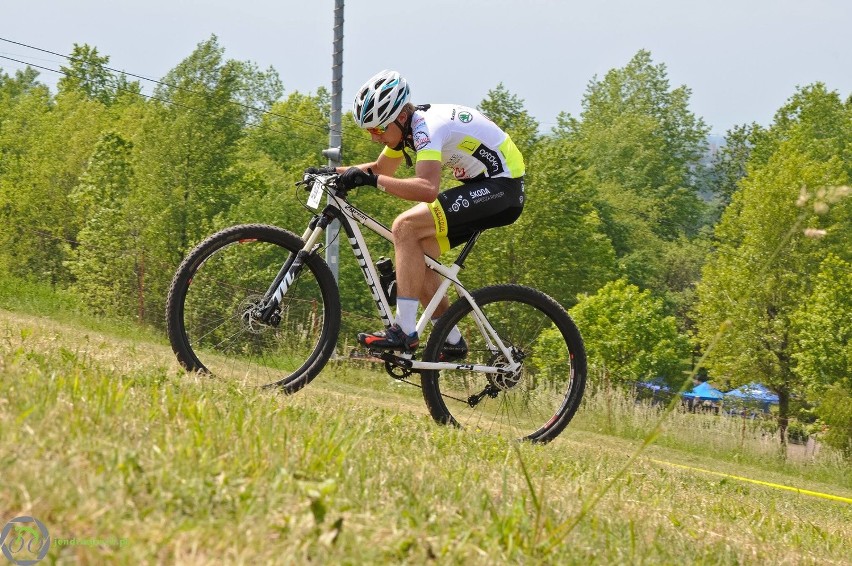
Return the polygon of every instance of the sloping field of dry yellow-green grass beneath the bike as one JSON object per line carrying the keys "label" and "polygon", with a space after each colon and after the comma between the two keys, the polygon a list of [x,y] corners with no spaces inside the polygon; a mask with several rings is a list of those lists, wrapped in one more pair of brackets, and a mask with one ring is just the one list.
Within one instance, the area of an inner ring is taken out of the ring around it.
{"label": "sloping field of dry yellow-green grass beneath the bike", "polygon": [[518,445],[436,425],[378,369],[284,397],[19,310],[0,374],[0,523],[39,519],[46,563],[852,564],[847,465],[736,419],[672,414],[622,473],[659,415],[623,396]]}

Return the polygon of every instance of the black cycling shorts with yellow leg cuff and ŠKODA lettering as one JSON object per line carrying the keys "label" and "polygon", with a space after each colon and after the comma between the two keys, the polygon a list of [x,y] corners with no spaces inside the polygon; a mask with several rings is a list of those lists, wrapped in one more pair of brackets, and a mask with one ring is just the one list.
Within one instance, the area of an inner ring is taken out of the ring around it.
{"label": "black cycling shorts with yellow leg cuff and \u0160KODA lettering", "polygon": [[429,204],[441,253],[474,232],[511,224],[524,209],[524,178],[484,178],[447,189]]}

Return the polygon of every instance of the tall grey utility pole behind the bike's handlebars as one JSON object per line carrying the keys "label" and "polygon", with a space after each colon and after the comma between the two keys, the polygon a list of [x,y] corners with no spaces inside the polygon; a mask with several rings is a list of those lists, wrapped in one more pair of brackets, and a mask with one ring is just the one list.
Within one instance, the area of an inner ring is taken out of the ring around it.
{"label": "tall grey utility pole behind the bike's handlebars", "polygon": [[[343,0],[334,0],[334,43],[331,65],[331,123],[328,149],[322,154],[328,158],[329,167],[339,167],[341,156],[341,108],[343,97]],[[330,198],[330,197],[329,197]],[[340,241],[337,238],[340,223],[335,220],[325,231],[325,261],[339,280]]]}

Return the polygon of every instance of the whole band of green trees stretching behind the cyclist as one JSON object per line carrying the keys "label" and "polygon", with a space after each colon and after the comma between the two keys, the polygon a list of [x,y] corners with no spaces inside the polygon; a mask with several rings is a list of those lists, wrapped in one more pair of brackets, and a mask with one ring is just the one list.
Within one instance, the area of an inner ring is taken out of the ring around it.
{"label": "whole band of green trees stretching behind the cyclist", "polygon": [[[274,69],[227,59],[215,36],[151,94],[108,63],[75,45],[55,93],[32,68],[0,69],[0,269],[162,327],[171,276],[203,237],[304,226],[294,183],[323,164],[330,96],[285,96]],[[571,309],[596,379],[679,386],[700,365],[723,386],[760,381],[780,397],[782,442],[809,411],[852,455],[852,100],[800,87],[708,159],[690,95],[639,51],[542,133],[495,85],[476,105],[523,152],[529,198],[483,235],[466,281],[529,284]],[[342,139],[348,163],[379,149],[346,117]],[[386,223],[410,204],[354,199]],[[371,313],[342,252],[344,308]]]}

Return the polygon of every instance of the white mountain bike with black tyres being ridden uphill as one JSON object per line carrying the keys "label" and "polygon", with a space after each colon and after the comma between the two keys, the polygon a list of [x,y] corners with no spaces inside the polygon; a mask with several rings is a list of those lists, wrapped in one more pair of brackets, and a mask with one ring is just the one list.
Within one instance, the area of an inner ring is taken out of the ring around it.
{"label": "white mountain bike with black tyres being ridden uphill", "polygon": [[[345,232],[385,327],[392,324],[386,275],[373,263],[361,227],[392,244],[390,230],[353,205],[335,174],[306,174],[310,195],[304,233],[246,224],[225,228],[183,260],[169,289],[169,340],[188,371],[239,379],[294,393],[336,353],[340,292],[324,261],[324,234],[333,221]],[[325,198],[323,198],[325,197]],[[326,204],[322,205],[323,200]],[[576,325],[546,294],[513,284],[469,291],[459,272],[481,233],[450,265],[426,256],[441,285],[417,322],[422,354],[372,351],[394,378],[419,386],[437,422],[548,442],[561,433],[583,396],[586,354]],[[323,243],[321,243],[321,241]],[[385,284],[382,282],[385,281]],[[457,299],[425,336],[441,299]],[[458,327],[464,359],[447,361],[442,348]],[[338,356],[342,357],[342,356]]]}

